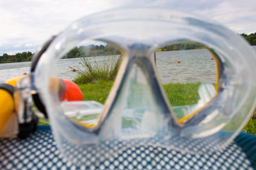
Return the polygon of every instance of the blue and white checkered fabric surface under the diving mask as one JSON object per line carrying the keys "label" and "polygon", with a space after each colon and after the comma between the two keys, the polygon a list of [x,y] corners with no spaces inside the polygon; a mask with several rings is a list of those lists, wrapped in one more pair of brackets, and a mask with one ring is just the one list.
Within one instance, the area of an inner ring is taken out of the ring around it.
{"label": "blue and white checkered fabric surface under the diving mask", "polygon": [[204,155],[143,145],[102,152],[87,151],[78,165],[61,155],[49,126],[38,126],[27,139],[0,139],[0,169],[256,169],[256,136],[244,132],[227,147]]}

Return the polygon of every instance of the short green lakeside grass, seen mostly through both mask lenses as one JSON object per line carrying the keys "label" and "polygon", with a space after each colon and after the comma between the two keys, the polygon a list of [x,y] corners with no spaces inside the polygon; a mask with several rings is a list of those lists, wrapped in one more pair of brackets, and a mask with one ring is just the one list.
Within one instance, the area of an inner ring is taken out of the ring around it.
{"label": "short green lakeside grass, seen mostly through both mask lenses", "polygon": [[[97,83],[78,84],[78,86],[83,92],[84,100],[104,104],[113,86],[113,81],[100,80]],[[200,83],[170,83],[164,85],[164,90],[172,106],[182,106],[198,102],[199,86]],[[40,124],[44,123],[40,122]],[[251,118],[243,131],[256,135],[256,118]]]}

